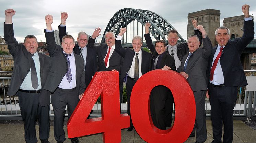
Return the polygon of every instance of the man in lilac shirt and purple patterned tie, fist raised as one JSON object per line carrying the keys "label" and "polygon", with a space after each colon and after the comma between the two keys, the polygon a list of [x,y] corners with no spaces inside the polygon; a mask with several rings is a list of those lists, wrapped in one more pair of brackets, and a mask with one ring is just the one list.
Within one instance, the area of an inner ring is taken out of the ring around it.
{"label": "man in lilac shirt and purple patterned tie, fist raised", "polygon": [[[74,38],[66,35],[62,38],[63,49],[56,44],[51,24],[53,17],[45,16],[47,29],[44,30],[47,50],[51,59],[51,70],[46,79],[44,89],[49,90],[54,110],[54,137],[57,143],[63,143],[65,132],[63,130],[65,108],[68,107],[70,118],[85,90],[84,59],[74,54]],[[72,143],[78,143],[78,138],[72,138]]]}

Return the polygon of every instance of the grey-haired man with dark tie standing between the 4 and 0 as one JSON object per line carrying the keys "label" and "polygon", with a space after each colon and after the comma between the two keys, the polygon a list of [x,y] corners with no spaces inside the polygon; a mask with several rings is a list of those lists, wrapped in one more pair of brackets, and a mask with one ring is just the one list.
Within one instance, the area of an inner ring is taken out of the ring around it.
{"label": "grey-haired man with dark tie standing between the 4 and 0", "polygon": [[[141,49],[142,46],[142,38],[140,36],[135,36],[132,38],[132,47],[133,50],[130,48],[123,48],[121,46],[122,36],[125,33],[126,28],[121,28],[120,33],[116,38],[115,42],[115,51],[120,54],[124,58],[124,63],[120,73],[120,83],[123,83],[123,80],[127,76],[127,83],[126,83],[126,93],[127,93],[127,112],[128,115],[131,116],[130,111],[130,99],[131,99],[131,90],[138,80],[143,74],[150,71],[150,59],[151,54],[143,51]],[[132,120],[130,118],[130,127],[127,131],[132,131],[134,128],[132,124]]]}

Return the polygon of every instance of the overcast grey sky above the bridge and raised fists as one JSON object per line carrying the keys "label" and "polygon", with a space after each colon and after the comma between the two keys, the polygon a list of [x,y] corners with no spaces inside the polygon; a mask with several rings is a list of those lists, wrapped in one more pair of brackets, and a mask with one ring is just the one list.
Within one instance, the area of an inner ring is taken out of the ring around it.
{"label": "overcast grey sky above the bridge and raised fists", "polygon": [[[80,31],[91,35],[95,27],[100,27],[103,34],[112,16],[123,8],[144,9],[161,15],[184,39],[187,37],[187,16],[191,12],[205,9],[220,10],[220,26],[223,25],[225,17],[243,15],[241,7],[244,4],[250,5],[250,15],[256,16],[255,0],[0,0],[0,3],[0,36],[3,37],[4,11],[12,8],[16,11],[13,23],[18,42],[23,42],[25,36],[29,34],[35,35],[38,41],[45,41],[45,15],[53,15],[53,29],[58,30],[60,13],[64,11],[69,14],[66,20],[67,31],[75,38]],[[100,41],[101,38],[99,36],[97,40]]]}

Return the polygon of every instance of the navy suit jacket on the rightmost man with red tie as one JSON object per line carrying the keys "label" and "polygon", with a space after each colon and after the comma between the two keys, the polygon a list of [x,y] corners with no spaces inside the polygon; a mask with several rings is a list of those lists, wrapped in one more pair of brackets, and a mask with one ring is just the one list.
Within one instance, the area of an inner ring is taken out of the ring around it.
{"label": "navy suit jacket on the rightmost man with red tie", "polygon": [[[253,20],[244,21],[244,34],[241,38],[235,38],[234,41],[229,40],[225,45],[221,56],[220,65],[224,75],[224,84],[226,87],[246,86],[248,85],[244,74],[243,66],[240,61],[240,56],[245,47],[254,38]],[[217,45],[218,46],[218,45]],[[211,66],[214,53],[217,49],[215,46],[211,50],[211,55],[208,62],[208,77],[210,77]],[[208,80],[209,81],[209,78]]]}

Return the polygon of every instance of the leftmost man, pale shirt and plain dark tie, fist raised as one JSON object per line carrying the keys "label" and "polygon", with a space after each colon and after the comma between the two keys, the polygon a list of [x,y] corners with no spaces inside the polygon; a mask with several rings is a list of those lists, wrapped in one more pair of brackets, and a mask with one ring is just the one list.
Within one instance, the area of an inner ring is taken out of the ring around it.
{"label": "leftmost man, pale shirt and plain dark tie, fist raised", "polygon": [[14,59],[14,68],[7,94],[19,97],[21,116],[24,121],[25,141],[36,143],[35,122],[39,122],[39,138],[49,143],[50,92],[43,90],[50,70],[50,57],[37,52],[38,42],[34,35],[27,35],[24,45],[14,38],[13,9],[5,10],[4,40]]}

